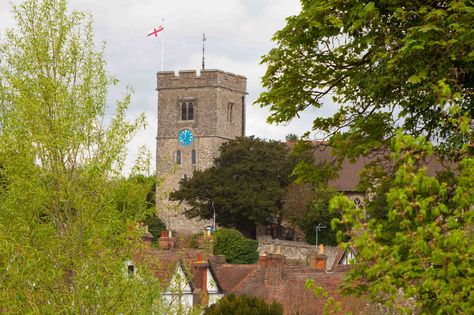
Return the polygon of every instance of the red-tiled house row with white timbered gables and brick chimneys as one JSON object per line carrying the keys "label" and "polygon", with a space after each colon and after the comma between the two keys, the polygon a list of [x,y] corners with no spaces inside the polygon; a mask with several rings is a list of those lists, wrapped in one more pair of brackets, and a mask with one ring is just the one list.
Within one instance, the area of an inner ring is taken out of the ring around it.
{"label": "red-tiled house row with white timbered gables and brick chimneys", "polygon": [[308,280],[340,301],[340,312],[381,314],[379,308],[363,298],[343,297],[339,291],[345,272],[351,268],[356,252],[338,248],[326,254],[324,246],[310,255],[307,264],[287,260],[281,247],[272,247],[260,255],[255,264],[228,264],[224,256],[203,257],[198,249],[168,246],[167,236],[160,237],[160,249],[151,247],[152,236],[145,233],[143,252],[135,257],[145,263],[162,284],[161,307],[165,314],[185,313],[192,307],[205,307],[225,294],[250,295],[276,301],[284,314],[322,314],[327,297],[316,296],[307,289]]}

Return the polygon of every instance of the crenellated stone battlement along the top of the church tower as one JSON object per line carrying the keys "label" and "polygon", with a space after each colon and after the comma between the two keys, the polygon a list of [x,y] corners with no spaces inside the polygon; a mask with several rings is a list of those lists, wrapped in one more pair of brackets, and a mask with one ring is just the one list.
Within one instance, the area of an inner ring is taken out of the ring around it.
{"label": "crenellated stone battlement along the top of the church tower", "polygon": [[160,71],[157,73],[157,90],[222,87],[246,94],[247,78],[217,69]]}

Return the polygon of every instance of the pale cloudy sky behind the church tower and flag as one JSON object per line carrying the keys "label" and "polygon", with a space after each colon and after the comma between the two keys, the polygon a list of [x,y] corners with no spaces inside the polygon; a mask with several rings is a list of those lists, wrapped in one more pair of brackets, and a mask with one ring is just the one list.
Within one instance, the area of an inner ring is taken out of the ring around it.
{"label": "pale cloudy sky behind the church tower and flag", "polygon": [[[0,0],[0,30],[14,25],[9,2]],[[261,57],[276,46],[271,39],[285,26],[285,19],[300,11],[298,0],[70,0],[69,7],[90,12],[95,40],[106,43],[108,71],[120,80],[109,92],[110,106],[130,86],[134,96],[128,117],[142,112],[147,117],[146,129],[128,145],[125,173],[140,146],[146,146],[155,160],[156,73],[161,69],[163,44],[163,70],[199,70],[205,33],[206,68],[247,77],[246,135],[275,140],[283,140],[289,133],[301,136],[311,130],[316,115],[328,112],[324,108],[321,113],[307,110],[288,124],[269,125],[268,109],[253,105],[263,91],[260,82],[266,68],[260,64]],[[146,36],[161,24],[164,31],[158,38]]]}

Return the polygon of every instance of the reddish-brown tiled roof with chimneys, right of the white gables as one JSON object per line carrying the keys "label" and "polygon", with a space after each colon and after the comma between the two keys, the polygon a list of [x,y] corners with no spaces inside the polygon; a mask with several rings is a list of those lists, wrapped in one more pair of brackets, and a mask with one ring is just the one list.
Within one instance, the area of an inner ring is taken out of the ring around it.
{"label": "reddish-brown tiled roof with chimneys, right of the white gables", "polygon": [[339,301],[338,314],[383,314],[379,306],[363,298],[341,295],[339,286],[352,263],[349,253],[355,251],[340,248],[336,259],[328,262],[328,256],[320,252],[312,256],[309,265],[290,264],[278,250],[260,256],[258,263],[251,265],[227,264],[218,257],[210,257],[209,262],[225,294],[251,295],[267,303],[276,301],[283,306],[284,314],[324,313],[328,299],[308,289],[308,280]]}

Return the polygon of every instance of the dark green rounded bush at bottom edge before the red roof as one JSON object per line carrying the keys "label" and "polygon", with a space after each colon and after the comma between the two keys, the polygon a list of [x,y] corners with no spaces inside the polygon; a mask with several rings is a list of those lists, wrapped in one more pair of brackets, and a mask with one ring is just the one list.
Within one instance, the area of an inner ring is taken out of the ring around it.
{"label": "dark green rounded bush at bottom edge before the red roof", "polygon": [[204,310],[204,315],[282,315],[283,307],[277,302],[268,305],[253,296],[229,294]]}

